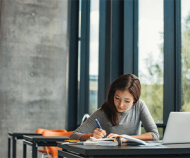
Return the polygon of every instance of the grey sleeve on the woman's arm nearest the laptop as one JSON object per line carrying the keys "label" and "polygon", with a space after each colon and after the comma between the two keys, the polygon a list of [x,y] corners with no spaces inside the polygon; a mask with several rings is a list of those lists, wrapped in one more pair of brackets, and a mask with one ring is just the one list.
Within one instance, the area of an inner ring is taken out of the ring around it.
{"label": "grey sleeve on the woman's arm nearest the laptop", "polygon": [[141,102],[140,119],[142,121],[145,131],[150,132],[152,134],[153,140],[158,140],[159,139],[158,128],[148,110],[148,107],[144,103],[144,101]]}

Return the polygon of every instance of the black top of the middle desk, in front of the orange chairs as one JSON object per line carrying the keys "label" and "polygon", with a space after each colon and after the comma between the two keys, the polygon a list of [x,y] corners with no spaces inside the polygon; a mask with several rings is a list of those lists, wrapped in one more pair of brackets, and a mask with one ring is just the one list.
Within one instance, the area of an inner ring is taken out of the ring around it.
{"label": "black top of the middle desk, in front of the orange chairs", "polygon": [[27,141],[30,141],[30,142],[56,142],[56,141],[64,141],[64,140],[68,140],[69,137],[65,137],[65,136],[47,136],[47,137],[44,137],[44,136],[34,136],[34,135],[24,135],[23,138]]}

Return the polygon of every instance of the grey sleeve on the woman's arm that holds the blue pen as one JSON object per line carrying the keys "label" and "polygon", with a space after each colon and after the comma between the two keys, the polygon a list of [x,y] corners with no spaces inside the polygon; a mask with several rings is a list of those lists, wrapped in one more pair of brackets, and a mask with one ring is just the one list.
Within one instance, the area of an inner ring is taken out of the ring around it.
{"label": "grey sleeve on the woman's arm that holds the blue pen", "polygon": [[95,118],[99,118],[101,115],[101,111],[95,111],[81,126],[79,126],[70,136],[72,140],[79,140],[83,134],[93,133],[98,125],[95,121]]}

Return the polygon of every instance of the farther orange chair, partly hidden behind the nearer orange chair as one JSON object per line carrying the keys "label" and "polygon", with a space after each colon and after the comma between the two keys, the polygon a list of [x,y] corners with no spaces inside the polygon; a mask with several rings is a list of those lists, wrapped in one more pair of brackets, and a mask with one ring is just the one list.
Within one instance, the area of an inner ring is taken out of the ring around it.
{"label": "farther orange chair, partly hidden behind the nearer orange chair", "polygon": [[[51,129],[43,129],[43,128],[38,128],[36,130],[36,133],[38,134],[42,134],[44,131],[52,131],[52,132],[67,132],[65,129],[56,129],[56,130],[51,130]],[[40,152],[41,154],[45,155],[45,154],[51,154],[51,151],[49,150],[49,148],[47,147],[43,147],[43,149],[39,149],[38,152]]]}

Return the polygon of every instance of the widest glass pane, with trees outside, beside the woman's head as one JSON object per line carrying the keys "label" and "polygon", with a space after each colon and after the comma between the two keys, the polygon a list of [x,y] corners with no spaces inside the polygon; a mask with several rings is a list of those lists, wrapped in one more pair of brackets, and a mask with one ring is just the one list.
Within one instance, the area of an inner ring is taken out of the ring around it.
{"label": "widest glass pane, with trees outside, beside the woman's head", "polygon": [[141,99],[155,122],[163,122],[163,0],[139,0]]}

